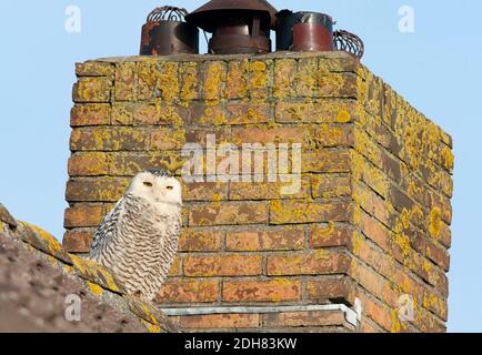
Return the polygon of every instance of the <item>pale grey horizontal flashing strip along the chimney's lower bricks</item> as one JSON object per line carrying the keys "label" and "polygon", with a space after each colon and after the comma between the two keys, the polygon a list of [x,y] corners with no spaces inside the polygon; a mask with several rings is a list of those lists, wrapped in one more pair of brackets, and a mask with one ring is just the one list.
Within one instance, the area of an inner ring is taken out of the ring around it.
{"label": "pale grey horizontal flashing strip along the chimney's lower bricks", "polygon": [[161,308],[168,316],[207,315],[207,314],[263,314],[280,312],[312,312],[312,311],[341,311],[344,318],[353,326],[358,326],[357,312],[344,304],[305,305],[305,306],[238,306],[238,307],[191,307],[191,308]]}

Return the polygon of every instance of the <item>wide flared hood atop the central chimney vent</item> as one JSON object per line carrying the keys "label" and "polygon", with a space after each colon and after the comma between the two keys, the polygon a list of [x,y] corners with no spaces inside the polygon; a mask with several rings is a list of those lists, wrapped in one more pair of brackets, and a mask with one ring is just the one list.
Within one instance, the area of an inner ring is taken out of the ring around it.
{"label": "wide flared hood atop the central chimney vent", "polygon": [[207,32],[213,33],[219,20],[225,18],[230,11],[261,12],[269,21],[271,29],[275,28],[278,10],[267,0],[211,0],[189,13],[185,20]]}

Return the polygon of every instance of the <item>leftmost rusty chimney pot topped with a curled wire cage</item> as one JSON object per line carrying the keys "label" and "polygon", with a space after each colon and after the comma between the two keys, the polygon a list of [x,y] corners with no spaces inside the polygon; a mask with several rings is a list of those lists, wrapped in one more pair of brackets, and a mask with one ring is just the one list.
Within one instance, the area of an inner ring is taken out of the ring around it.
{"label": "leftmost rusty chimney pot topped with a curled wire cage", "polygon": [[141,55],[199,53],[199,30],[184,21],[188,11],[175,7],[154,9],[142,27]]}

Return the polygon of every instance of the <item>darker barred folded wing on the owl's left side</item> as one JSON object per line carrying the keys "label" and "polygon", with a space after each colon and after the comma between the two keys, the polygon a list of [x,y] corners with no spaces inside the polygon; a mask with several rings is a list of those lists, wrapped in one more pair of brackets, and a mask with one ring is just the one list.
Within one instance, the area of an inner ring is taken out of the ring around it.
{"label": "darker barred folded wing on the owl's left side", "polygon": [[97,262],[101,261],[106,252],[107,245],[110,242],[112,242],[112,240],[116,237],[117,225],[119,223],[119,220],[121,219],[123,211],[124,211],[124,201],[123,199],[121,199],[112,209],[112,211],[110,211],[103,217],[102,223],[97,229],[93,235],[89,258],[94,260]]}

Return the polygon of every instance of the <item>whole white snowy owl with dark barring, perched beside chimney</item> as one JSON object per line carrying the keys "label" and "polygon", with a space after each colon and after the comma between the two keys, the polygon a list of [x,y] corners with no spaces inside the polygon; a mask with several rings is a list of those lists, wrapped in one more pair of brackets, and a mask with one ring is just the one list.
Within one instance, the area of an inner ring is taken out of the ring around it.
{"label": "whole white snowy owl with dark barring, perched beside chimney", "polygon": [[165,281],[181,231],[181,184],[164,171],[138,174],[97,230],[90,258],[130,295],[152,301]]}

